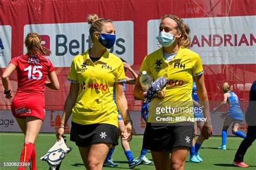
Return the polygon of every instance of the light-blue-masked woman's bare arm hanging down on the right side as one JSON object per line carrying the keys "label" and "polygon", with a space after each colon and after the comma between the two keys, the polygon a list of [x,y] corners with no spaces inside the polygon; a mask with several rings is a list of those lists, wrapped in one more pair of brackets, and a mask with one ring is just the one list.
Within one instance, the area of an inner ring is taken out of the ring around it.
{"label": "light-blue-masked woman's bare arm hanging down on the right side", "polygon": [[199,97],[200,105],[203,107],[204,117],[206,121],[202,129],[202,135],[204,139],[208,139],[212,134],[212,123],[209,111],[209,102],[207,91],[205,88],[204,74],[194,77],[197,84],[197,94]]}

